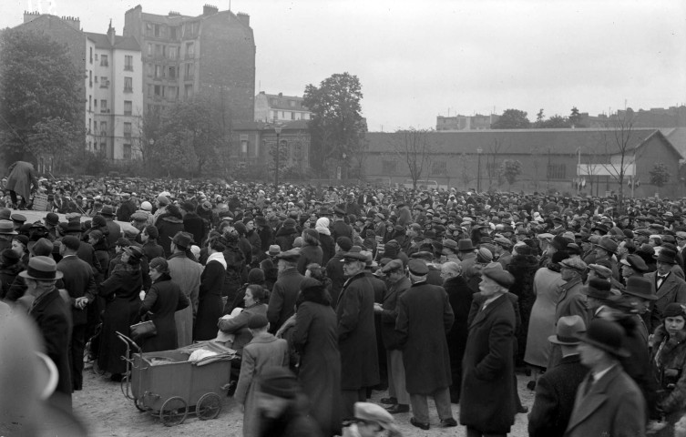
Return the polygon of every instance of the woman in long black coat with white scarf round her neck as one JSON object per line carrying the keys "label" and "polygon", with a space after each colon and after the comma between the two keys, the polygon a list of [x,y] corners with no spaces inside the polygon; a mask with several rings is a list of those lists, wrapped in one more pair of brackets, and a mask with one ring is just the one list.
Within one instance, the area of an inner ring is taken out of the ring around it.
{"label": "woman in long black coat with white scarf round her neck", "polygon": [[221,289],[226,278],[226,260],[222,253],[226,246],[220,237],[211,238],[207,244],[210,255],[200,275],[198,313],[193,327],[193,340],[212,340],[217,337],[217,320],[221,317]]}

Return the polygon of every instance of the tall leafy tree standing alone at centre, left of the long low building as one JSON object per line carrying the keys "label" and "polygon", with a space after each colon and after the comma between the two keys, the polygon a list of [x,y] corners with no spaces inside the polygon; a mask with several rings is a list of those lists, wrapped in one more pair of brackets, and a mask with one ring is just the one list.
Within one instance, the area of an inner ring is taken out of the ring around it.
{"label": "tall leafy tree standing alone at centre, left of the long low building", "polygon": [[334,166],[350,167],[352,159],[362,164],[367,130],[362,97],[360,79],[347,72],[324,79],[319,87],[305,86],[302,105],[312,112],[310,162],[321,175],[331,177]]}

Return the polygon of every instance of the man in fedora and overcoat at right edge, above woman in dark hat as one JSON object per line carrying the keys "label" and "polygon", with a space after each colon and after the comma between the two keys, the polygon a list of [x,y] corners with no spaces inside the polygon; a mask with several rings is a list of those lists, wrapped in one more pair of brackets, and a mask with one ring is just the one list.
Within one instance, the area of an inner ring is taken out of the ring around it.
{"label": "man in fedora and overcoat at right edge, above woman in dark hat", "polygon": [[677,263],[676,256],[674,250],[661,249],[657,257],[658,269],[645,275],[653,287],[653,294],[657,296],[650,313],[649,328],[660,325],[662,312],[667,305],[673,302],[686,304],[686,282],[671,270]]}

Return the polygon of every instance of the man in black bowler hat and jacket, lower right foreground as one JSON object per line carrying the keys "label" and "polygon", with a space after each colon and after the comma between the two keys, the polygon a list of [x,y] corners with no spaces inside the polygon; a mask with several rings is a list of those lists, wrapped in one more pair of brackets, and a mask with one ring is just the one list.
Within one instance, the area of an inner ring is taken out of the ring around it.
{"label": "man in black bowler hat and jacket, lower right foreground", "polygon": [[579,357],[590,371],[578,386],[566,437],[645,435],[646,402],[619,363],[630,355],[623,336],[617,323],[603,319],[579,336]]}

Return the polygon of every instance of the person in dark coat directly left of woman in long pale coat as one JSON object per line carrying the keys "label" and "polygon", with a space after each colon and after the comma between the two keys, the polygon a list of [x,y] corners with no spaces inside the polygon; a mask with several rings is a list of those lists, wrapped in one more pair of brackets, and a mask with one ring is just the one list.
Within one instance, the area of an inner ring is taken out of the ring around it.
{"label": "person in dark coat directly left of woman in long pale coat", "polygon": [[534,292],[534,277],[538,271],[538,260],[533,255],[517,254],[512,257],[512,261],[507,266],[515,283],[510,287],[510,293],[519,298],[519,315],[521,316],[521,326],[515,332],[517,335],[517,365],[524,365],[524,352],[527,351],[528,320],[531,316],[531,309],[536,302]]}

